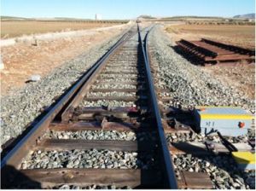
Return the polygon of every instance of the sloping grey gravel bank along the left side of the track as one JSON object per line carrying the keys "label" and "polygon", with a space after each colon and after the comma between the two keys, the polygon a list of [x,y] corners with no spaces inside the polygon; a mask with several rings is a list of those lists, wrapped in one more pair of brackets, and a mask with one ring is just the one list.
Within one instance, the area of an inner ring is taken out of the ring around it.
{"label": "sloping grey gravel bank along the left side of the track", "polygon": [[15,94],[1,97],[1,145],[10,138],[19,136],[26,125],[40,115],[43,108],[49,107],[55,97],[61,96],[120,37],[121,35],[89,49],[40,81],[27,84]]}

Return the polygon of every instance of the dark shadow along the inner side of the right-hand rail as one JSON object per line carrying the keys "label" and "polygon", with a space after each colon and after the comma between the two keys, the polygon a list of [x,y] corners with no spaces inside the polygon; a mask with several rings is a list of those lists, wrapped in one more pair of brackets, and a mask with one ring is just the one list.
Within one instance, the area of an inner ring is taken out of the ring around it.
{"label": "dark shadow along the inner side of the right-hand rail", "polygon": [[[138,38],[138,41],[140,42],[140,39]],[[137,144],[138,144],[138,159],[143,160],[143,162],[145,164],[147,163],[152,163],[151,168],[148,170],[144,170],[143,166],[140,166],[142,171],[141,171],[141,181],[142,181],[142,185],[137,187],[137,188],[154,188],[154,189],[160,189],[160,188],[168,188],[169,185],[167,184],[166,181],[166,171],[164,168],[165,161],[163,161],[163,153],[161,153],[161,149],[160,149],[160,140],[159,140],[159,135],[157,132],[157,123],[156,123],[156,119],[154,119],[154,114],[153,114],[153,110],[152,110],[152,102],[150,99],[150,92],[149,92],[149,84],[147,81],[147,73],[146,73],[146,68],[144,65],[144,58],[143,58],[143,49],[141,47],[141,44],[139,44],[140,48],[137,50],[137,60],[139,61],[138,63],[140,64],[139,67],[141,67],[141,69],[138,69],[139,74],[144,76],[146,80],[146,83],[144,84],[143,88],[145,91],[143,92],[146,96],[147,99],[138,99],[136,104],[139,107],[144,107],[146,108],[146,113],[145,113],[145,118],[142,119],[141,124],[148,124],[146,126],[148,126],[148,128],[144,128],[143,130],[148,130],[148,132],[150,132],[151,136],[154,136],[154,141],[150,140],[148,142],[141,142],[141,138],[140,136],[138,136],[137,134]],[[140,73],[140,70],[143,71]],[[139,78],[137,79],[138,81],[140,80]],[[143,127],[142,127],[143,128]],[[148,140],[148,138],[150,139],[150,137],[148,137],[147,135],[144,137],[144,139]],[[146,145],[145,145],[146,144]],[[145,147],[147,147],[147,152],[149,153],[149,156],[152,156],[153,158],[150,157],[145,157],[147,156],[147,153],[145,152],[140,152],[140,150],[143,150]],[[151,174],[150,173],[153,173]],[[151,176],[150,176],[151,174]],[[149,182],[149,183],[148,183]],[[147,183],[147,184],[145,184]]]}

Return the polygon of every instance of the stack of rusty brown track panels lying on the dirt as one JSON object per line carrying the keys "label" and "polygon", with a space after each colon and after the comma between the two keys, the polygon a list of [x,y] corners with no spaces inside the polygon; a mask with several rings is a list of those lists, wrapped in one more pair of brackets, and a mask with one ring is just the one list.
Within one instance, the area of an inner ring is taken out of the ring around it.
{"label": "stack of rusty brown track panels lying on the dirt", "polygon": [[202,65],[219,62],[255,61],[255,50],[219,43],[206,38],[201,38],[201,41],[181,39],[176,43],[199,60]]}

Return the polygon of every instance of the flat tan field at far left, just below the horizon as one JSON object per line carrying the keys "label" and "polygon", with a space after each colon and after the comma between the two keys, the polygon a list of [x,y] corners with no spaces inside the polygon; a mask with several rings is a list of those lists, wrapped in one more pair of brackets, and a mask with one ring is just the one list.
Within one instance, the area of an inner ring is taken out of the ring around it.
{"label": "flat tan field at far left, just below the horizon", "polygon": [[15,38],[24,34],[38,34],[44,32],[61,32],[82,30],[103,26],[113,26],[117,23],[96,23],[77,21],[1,21],[1,38]]}

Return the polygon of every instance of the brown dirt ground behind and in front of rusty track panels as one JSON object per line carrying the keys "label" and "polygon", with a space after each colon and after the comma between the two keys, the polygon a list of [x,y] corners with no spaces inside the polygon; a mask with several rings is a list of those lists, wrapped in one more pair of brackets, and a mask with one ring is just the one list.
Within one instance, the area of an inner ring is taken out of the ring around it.
{"label": "brown dirt ground behind and in front of rusty track panels", "polygon": [[[166,26],[165,32],[174,41],[181,38],[199,40],[211,38],[224,43],[232,43],[238,46],[255,49],[254,26]],[[215,65],[202,67],[205,72],[211,73],[224,84],[244,92],[250,98],[255,99],[255,63],[235,65]]]}

